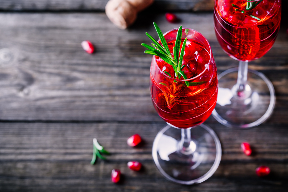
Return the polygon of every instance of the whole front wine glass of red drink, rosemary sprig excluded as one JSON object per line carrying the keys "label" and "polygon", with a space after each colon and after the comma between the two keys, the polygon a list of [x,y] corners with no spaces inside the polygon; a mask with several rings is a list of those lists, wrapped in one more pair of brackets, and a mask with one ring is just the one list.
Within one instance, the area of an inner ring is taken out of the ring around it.
{"label": "whole front wine glass of red drink, rosemary sprig excluded", "polygon": [[[172,54],[177,31],[173,29],[164,34]],[[215,107],[218,78],[205,37],[193,29],[183,28],[181,47],[185,37],[181,70],[186,80],[177,78],[173,67],[158,56],[152,58],[151,98],[157,113],[168,123],[154,140],[152,156],[165,178],[192,185],[209,178],[221,159],[217,135],[202,124]]]}

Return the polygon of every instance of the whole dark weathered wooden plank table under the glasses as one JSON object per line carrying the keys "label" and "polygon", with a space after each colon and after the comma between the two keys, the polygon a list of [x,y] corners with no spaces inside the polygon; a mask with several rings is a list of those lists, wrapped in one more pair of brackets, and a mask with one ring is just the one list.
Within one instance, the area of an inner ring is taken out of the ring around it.
{"label": "whole dark weathered wooden plank table under the glasses", "polygon": [[[199,8],[203,1],[207,6]],[[165,122],[150,99],[151,56],[140,43],[149,43],[145,32],[156,37],[152,22],[162,31],[182,24],[209,40],[219,73],[237,61],[216,40],[207,0],[156,0],[127,30],[109,21],[106,2],[0,0],[0,191],[287,191],[287,11],[272,49],[249,64],[274,85],[272,116],[249,130],[209,117],[206,124],[222,144],[220,166],[205,182],[181,186],[163,178],[152,160],[153,140]],[[165,10],[181,23],[168,23]],[[82,50],[83,40],[94,43],[95,54]],[[131,148],[126,140],[135,133],[144,142]],[[111,155],[92,166],[94,137]],[[253,147],[251,157],[240,151],[244,141]],[[129,170],[130,160],[141,161],[144,170]],[[271,168],[268,178],[256,176],[261,165]],[[123,173],[118,185],[110,181],[113,168]]]}

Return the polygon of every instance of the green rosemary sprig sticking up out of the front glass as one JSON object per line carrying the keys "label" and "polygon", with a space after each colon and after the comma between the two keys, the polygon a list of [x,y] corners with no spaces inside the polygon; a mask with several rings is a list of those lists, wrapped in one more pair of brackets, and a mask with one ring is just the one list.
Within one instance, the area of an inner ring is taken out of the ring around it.
{"label": "green rosemary sprig sticking up out of the front glass", "polygon": [[[187,76],[185,75],[185,73],[183,71],[181,71],[183,69],[183,67],[184,67],[182,65],[182,61],[183,61],[184,50],[185,50],[186,41],[187,41],[187,37],[186,37],[184,39],[182,47],[180,47],[181,46],[181,40],[182,40],[182,26],[179,27],[178,32],[177,32],[175,46],[173,47],[173,56],[174,56],[174,58],[173,58],[171,53],[170,53],[169,47],[167,45],[167,42],[166,42],[166,40],[164,38],[164,35],[163,35],[162,31],[160,30],[160,28],[158,27],[158,25],[155,22],[153,24],[154,24],[154,27],[155,27],[155,29],[157,31],[157,34],[159,36],[159,39],[160,39],[163,47],[151,35],[146,33],[146,35],[149,37],[149,39],[151,39],[151,41],[153,42],[152,45],[155,48],[151,47],[151,46],[149,46],[149,45],[147,45],[145,43],[142,43],[141,45],[143,45],[144,47],[149,49],[149,50],[146,50],[144,53],[159,56],[166,63],[172,65],[172,67],[173,67],[173,69],[175,71],[175,76],[176,77],[180,78],[180,76],[182,76],[183,79],[187,79]],[[189,30],[185,30],[185,33],[187,34],[188,31]],[[181,51],[180,51],[180,48],[181,48]],[[179,55],[179,53],[180,53],[180,55]],[[169,75],[171,77],[171,75],[169,73],[167,75]],[[175,82],[175,80],[174,80],[174,82]],[[189,87],[189,82],[185,81],[185,83],[186,83],[187,87]],[[160,83],[160,84],[163,85],[165,83]],[[165,86],[167,86],[167,85],[165,84]]]}

